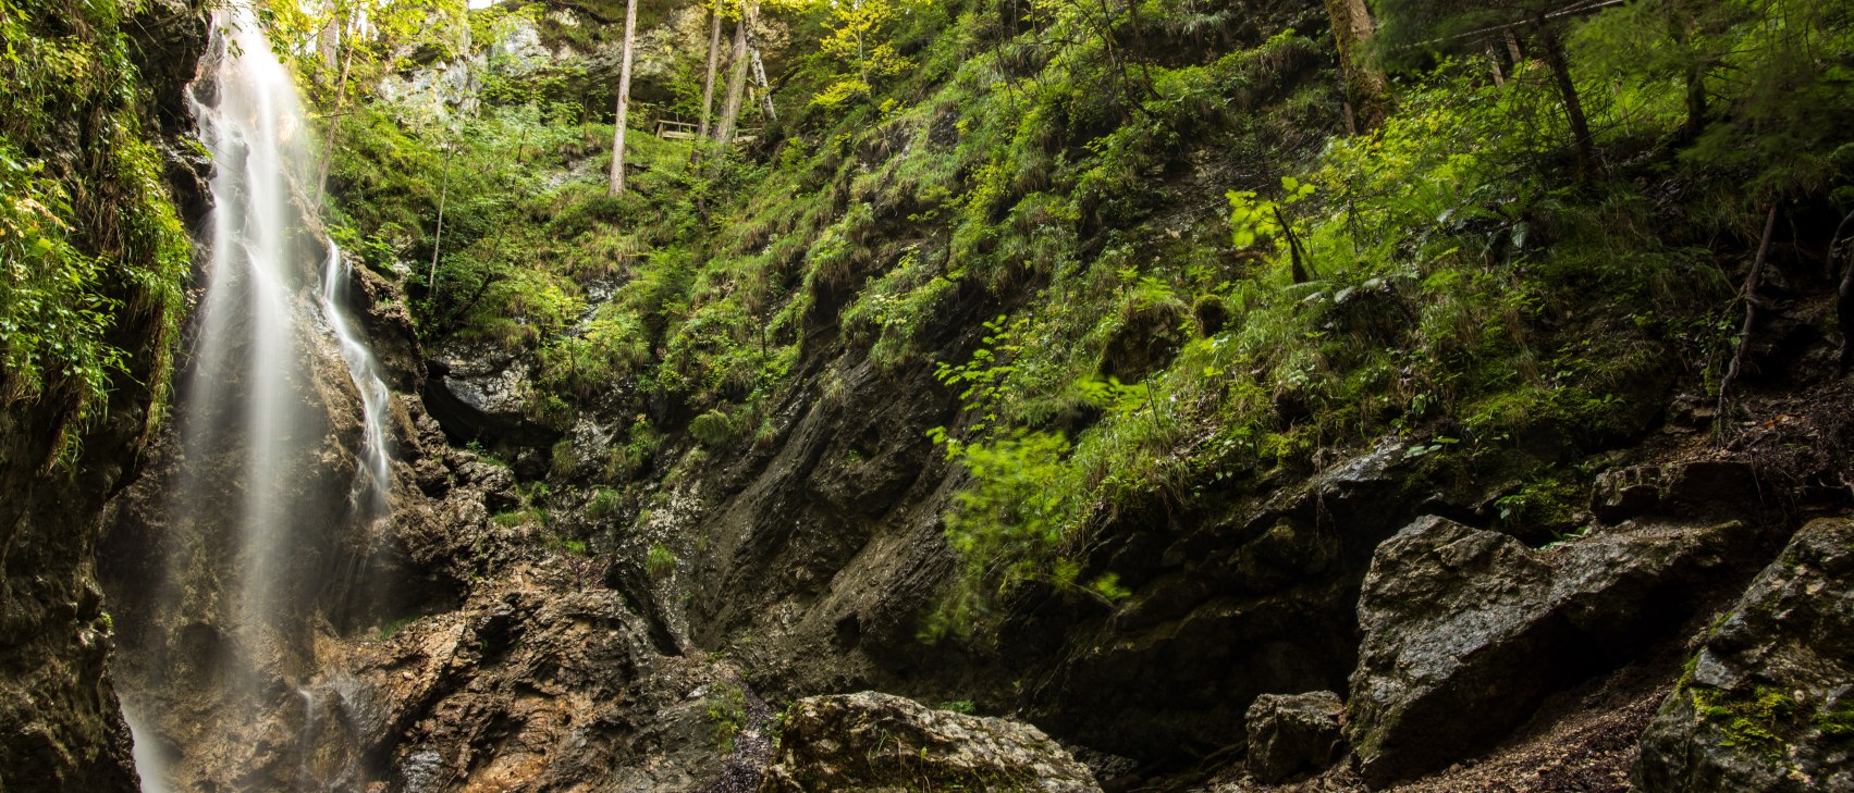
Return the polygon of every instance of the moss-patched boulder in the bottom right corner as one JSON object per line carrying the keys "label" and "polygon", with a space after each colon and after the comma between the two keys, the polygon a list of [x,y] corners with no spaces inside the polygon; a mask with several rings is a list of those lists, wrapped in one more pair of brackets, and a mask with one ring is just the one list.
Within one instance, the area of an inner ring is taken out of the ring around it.
{"label": "moss-patched boulder in the bottom right corner", "polygon": [[1854,521],[1802,528],[1708,636],[1641,743],[1672,791],[1854,791]]}

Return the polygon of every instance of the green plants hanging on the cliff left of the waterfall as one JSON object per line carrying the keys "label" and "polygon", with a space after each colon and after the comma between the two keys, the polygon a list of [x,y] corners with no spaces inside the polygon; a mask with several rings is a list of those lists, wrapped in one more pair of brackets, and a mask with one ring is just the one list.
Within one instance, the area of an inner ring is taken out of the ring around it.
{"label": "green plants hanging on the cliff left of the waterfall", "polygon": [[[0,0],[0,406],[48,406],[74,465],[109,395],[161,421],[191,245],[119,4]],[[82,109],[82,111],[74,111]]]}

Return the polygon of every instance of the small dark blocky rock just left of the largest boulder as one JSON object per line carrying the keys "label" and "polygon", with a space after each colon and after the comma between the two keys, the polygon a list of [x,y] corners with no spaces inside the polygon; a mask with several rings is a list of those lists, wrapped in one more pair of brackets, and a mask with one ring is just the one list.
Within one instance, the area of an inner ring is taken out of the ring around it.
{"label": "small dark blocky rock just left of the largest boulder", "polygon": [[1281,784],[1326,771],[1344,749],[1339,736],[1344,711],[1346,704],[1331,691],[1255,697],[1248,713],[1250,774],[1257,782]]}

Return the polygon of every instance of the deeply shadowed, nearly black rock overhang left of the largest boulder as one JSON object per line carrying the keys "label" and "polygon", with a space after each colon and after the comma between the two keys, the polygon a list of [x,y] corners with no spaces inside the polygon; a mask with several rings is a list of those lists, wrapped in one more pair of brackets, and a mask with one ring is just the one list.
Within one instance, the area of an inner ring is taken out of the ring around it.
{"label": "deeply shadowed, nearly black rock overhang left of the largest boulder", "polygon": [[1372,548],[1435,493],[1422,458],[1381,443],[1201,522],[1122,511],[1105,567],[1135,595],[1111,628],[1051,610],[1068,647],[1035,647],[1035,624],[1003,632],[1012,654],[1060,660],[1029,713],[1064,741],[1185,765],[1242,743],[1263,693],[1344,689]]}

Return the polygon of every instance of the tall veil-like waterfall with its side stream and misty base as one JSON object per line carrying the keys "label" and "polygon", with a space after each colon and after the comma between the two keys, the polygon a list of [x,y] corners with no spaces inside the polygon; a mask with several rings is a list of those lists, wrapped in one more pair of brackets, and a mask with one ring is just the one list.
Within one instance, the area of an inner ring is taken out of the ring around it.
{"label": "tall veil-like waterfall with its side stream and misty base", "polygon": [[[302,102],[248,6],[219,19],[210,70],[195,87],[215,167],[206,291],[176,400],[161,602],[126,641],[122,700],[145,791],[347,789],[360,752],[328,741],[363,691],[317,632],[376,585],[356,578],[391,510],[391,395],[349,308],[356,276],[304,189]],[[352,478],[330,487],[343,458]]]}

